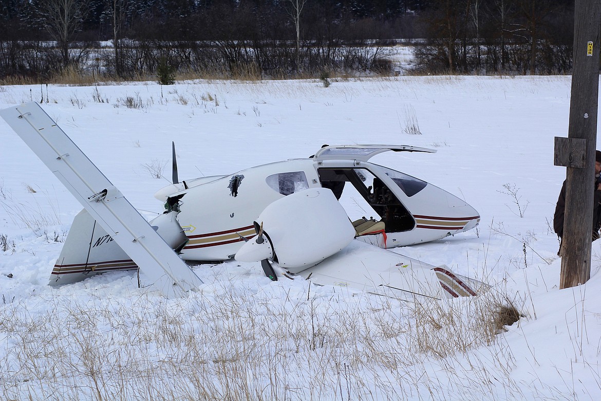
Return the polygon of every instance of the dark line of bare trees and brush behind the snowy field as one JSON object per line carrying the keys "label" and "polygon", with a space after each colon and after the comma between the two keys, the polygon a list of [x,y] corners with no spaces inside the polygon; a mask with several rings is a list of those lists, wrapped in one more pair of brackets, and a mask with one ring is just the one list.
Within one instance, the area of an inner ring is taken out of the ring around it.
{"label": "dark line of bare trees and brush behind the snowy field", "polygon": [[422,72],[566,73],[572,37],[569,0],[0,0],[0,78],[386,74],[402,39]]}

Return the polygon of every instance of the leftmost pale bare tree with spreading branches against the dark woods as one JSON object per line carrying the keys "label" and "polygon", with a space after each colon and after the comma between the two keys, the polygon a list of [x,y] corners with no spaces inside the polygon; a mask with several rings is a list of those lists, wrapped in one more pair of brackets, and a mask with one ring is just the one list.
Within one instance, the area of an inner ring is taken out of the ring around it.
{"label": "leftmost pale bare tree with spreading branches against the dark woods", "polygon": [[81,29],[89,3],[90,0],[40,0],[36,4],[46,30],[61,51],[63,67],[69,66],[70,43]]}

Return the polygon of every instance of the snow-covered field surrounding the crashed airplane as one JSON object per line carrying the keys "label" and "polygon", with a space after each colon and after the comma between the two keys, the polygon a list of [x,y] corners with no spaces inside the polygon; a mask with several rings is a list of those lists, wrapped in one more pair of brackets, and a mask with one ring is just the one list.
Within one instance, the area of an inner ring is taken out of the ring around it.
{"label": "snow-covered field surrounding the crashed airplane", "polygon": [[[195,268],[207,284],[184,299],[138,289],[135,272],[51,288],[81,206],[0,120],[0,399],[601,398],[601,246],[591,280],[560,291],[551,228],[569,76],[0,87],[0,108],[40,99],[148,219],[163,210],[153,194],[168,181],[153,173],[171,176],[171,141],[180,179],[322,144],[435,148],[372,161],[465,199],[480,226],[395,251],[493,289],[411,304],[273,283],[234,261]],[[487,307],[499,299],[524,317],[495,335]]]}

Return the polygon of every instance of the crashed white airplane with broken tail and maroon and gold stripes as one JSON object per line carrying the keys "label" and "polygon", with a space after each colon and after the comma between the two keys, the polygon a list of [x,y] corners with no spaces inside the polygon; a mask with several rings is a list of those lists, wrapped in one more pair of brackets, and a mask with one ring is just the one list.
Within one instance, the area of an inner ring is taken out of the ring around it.
{"label": "crashed white airplane with broken tail and maroon and gold stripes", "polygon": [[[174,184],[155,194],[166,210],[148,223],[37,103],[0,116],[85,208],[73,221],[50,285],[139,266],[148,283],[166,294],[182,293],[202,285],[182,259],[235,257],[260,261],[272,280],[301,275],[401,299],[473,296],[480,289],[481,283],[446,266],[385,249],[441,239],[480,221],[454,195],[368,162],[386,151],[435,150],[325,146],[307,159],[182,182],[174,165]],[[345,210],[340,201],[346,199],[362,202],[369,218]]]}

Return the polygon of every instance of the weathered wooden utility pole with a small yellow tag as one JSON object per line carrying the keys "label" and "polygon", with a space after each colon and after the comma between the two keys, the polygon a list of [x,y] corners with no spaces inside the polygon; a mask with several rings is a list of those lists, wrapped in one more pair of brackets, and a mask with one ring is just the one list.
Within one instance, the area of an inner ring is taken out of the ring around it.
{"label": "weathered wooden utility pole with a small yellow tag", "polygon": [[591,276],[600,29],[601,1],[576,0],[568,138],[555,138],[555,165],[567,167],[561,289]]}

